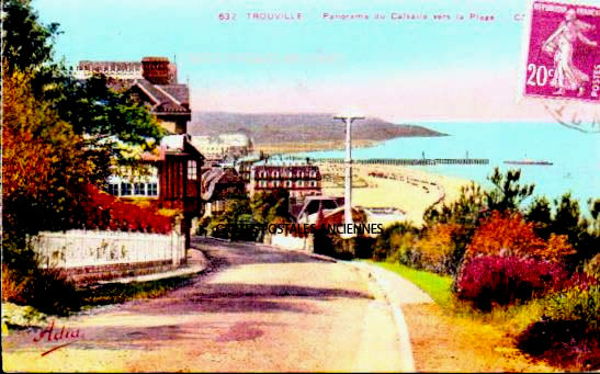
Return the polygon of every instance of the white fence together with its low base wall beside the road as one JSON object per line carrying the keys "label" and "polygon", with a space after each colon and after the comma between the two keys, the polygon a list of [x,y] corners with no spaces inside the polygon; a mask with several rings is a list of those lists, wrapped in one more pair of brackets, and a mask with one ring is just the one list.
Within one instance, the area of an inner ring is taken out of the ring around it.
{"label": "white fence together with its low base wall beside the road", "polygon": [[105,280],[166,271],[185,262],[185,237],[68,230],[42,231],[31,238],[44,269],[64,269],[76,281]]}

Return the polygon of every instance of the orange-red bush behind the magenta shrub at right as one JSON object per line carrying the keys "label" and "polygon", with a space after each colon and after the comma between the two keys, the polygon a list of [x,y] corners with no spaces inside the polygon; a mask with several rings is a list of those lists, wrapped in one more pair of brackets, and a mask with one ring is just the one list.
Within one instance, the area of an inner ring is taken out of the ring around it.
{"label": "orange-red bush behind the magenta shrub at right", "polygon": [[535,224],[528,223],[519,213],[493,212],[473,235],[466,257],[533,256],[558,262],[574,252],[566,236],[553,234],[546,242],[535,234]]}

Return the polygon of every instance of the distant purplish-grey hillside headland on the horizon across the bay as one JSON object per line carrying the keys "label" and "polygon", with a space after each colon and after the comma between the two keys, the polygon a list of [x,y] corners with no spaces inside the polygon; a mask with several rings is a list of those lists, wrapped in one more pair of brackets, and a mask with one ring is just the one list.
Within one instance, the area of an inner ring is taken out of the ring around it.
{"label": "distant purplish-grey hillside headland on the horizon across the bay", "polygon": [[[254,144],[343,140],[344,126],[331,114],[246,114],[228,112],[194,112],[188,126],[192,135],[217,135],[240,132]],[[352,139],[364,141],[387,140],[408,136],[443,136],[418,125],[395,125],[367,117],[352,125]]]}

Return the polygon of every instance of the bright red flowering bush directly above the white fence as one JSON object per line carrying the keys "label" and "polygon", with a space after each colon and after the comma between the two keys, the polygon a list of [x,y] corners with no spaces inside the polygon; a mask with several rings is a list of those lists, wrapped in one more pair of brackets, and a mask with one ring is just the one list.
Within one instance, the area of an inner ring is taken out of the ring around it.
{"label": "bright red flowering bush directly above the white fence", "polygon": [[171,218],[152,208],[122,202],[93,185],[88,185],[87,192],[88,200],[82,204],[86,228],[155,234],[171,231]]}

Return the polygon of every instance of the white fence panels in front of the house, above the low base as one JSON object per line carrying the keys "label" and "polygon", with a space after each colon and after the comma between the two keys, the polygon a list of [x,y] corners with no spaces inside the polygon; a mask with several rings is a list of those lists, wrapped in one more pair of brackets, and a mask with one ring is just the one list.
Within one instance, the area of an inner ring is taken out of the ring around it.
{"label": "white fence panels in front of the house, above the low base", "polygon": [[68,230],[42,231],[31,238],[42,268],[80,268],[122,263],[138,264],[185,259],[185,237],[173,230],[170,235]]}

